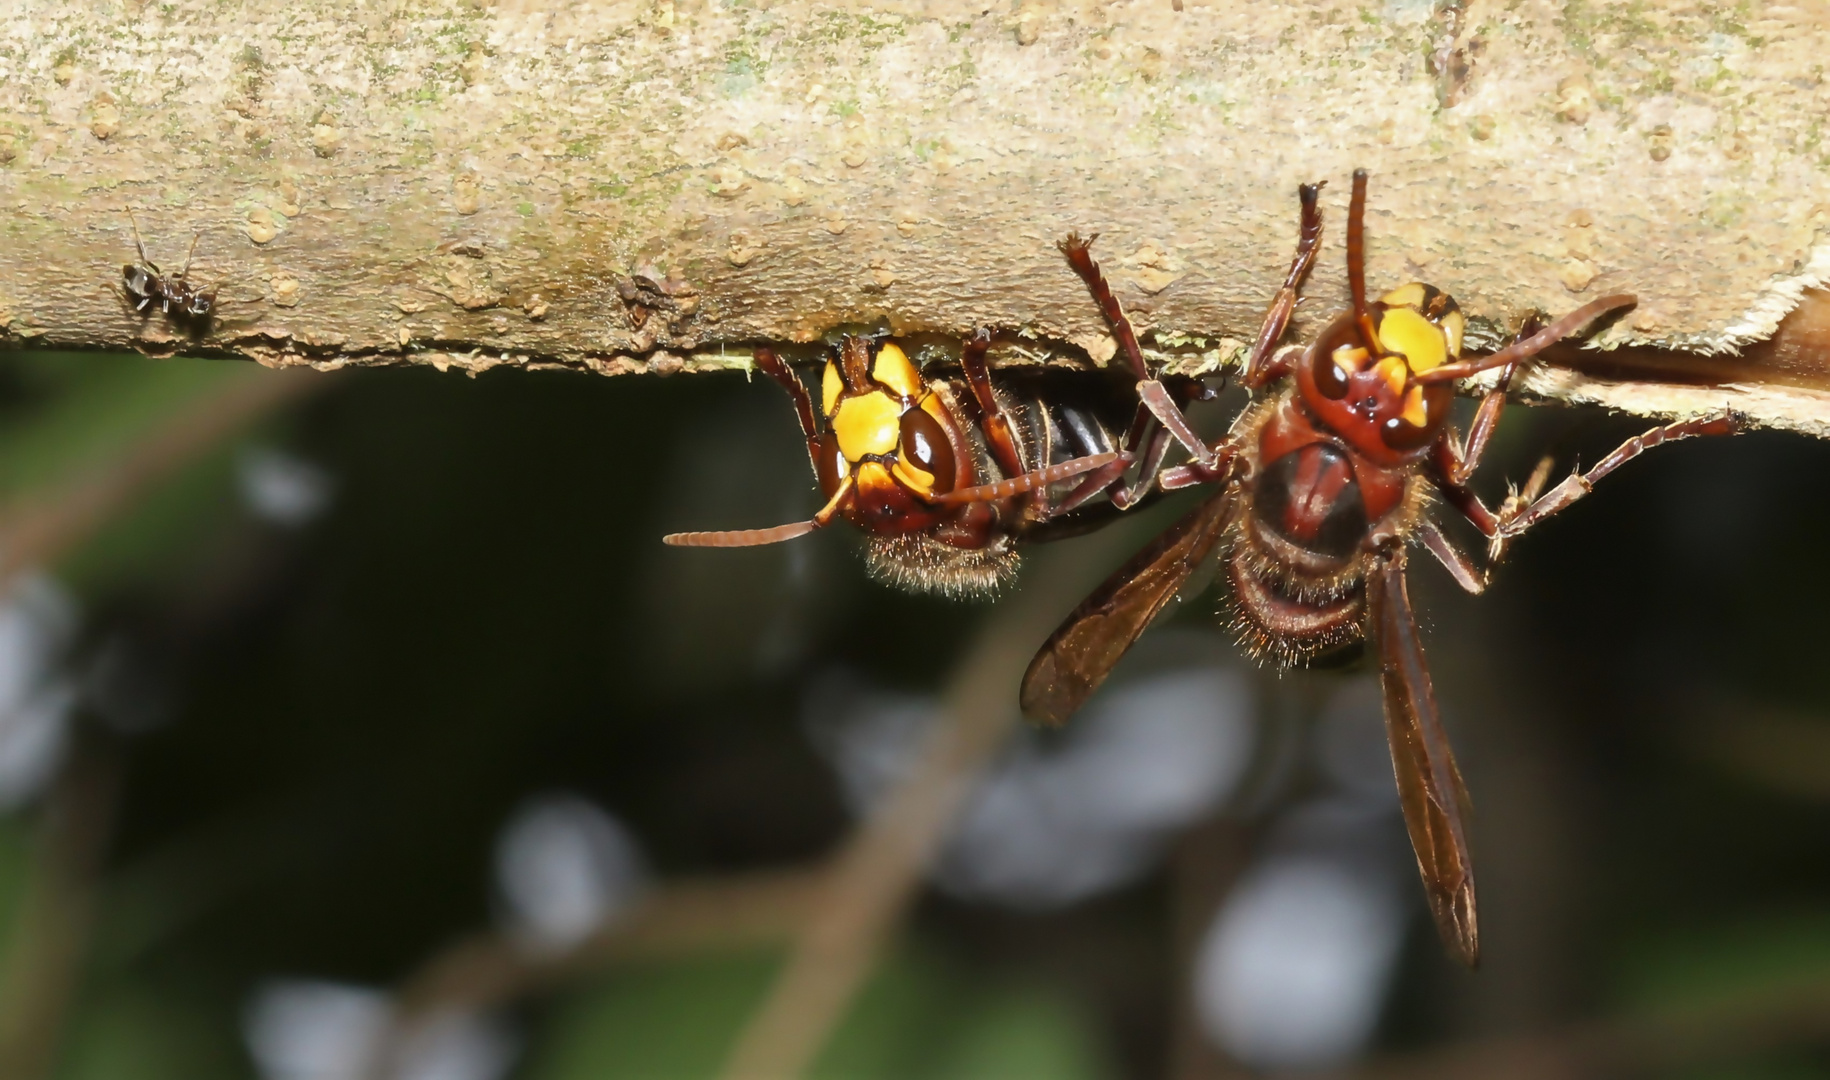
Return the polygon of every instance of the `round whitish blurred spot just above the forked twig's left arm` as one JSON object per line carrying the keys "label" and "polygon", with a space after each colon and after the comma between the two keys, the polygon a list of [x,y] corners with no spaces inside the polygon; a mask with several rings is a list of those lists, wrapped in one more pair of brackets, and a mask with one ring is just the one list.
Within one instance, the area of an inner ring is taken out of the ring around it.
{"label": "round whitish blurred spot just above the forked twig's left arm", "polygon": [[522,804],[496,838],[496,890],[509,932],[534,948],[576,945],[646,882],[628,827],[576,794]]}

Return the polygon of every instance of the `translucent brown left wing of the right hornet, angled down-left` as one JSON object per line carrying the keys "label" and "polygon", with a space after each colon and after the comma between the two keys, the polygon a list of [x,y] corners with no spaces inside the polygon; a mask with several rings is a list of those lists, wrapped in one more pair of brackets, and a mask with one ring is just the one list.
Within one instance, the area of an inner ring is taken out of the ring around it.
{"label": "translucent brown left wing of the right hornet, angled down-left", "polygon": [[1023,714],[1063,723],[1098,690],[1226,531],[1232,485],[1169,525],[1105,578],[1049,637],[1023,674]]}

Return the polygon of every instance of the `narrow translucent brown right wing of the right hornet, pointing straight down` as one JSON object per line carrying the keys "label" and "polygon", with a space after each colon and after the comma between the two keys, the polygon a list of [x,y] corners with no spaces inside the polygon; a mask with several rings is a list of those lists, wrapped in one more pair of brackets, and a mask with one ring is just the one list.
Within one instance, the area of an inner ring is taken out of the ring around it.
{"label": "narrow translucent brown right wing of the right hornet, pointing straight down", "polygon": [[1437,716],[1437,694],[1424,666],[1416,619],[1404,586],[1404,558],[1376,558],[1367,580],[1371,630],[1378,635],[1380,685],[1385,690],[1385,736],[1398,776],[1404,824],[1416,851],[1429,912],[1442,943],[1468,967],[1480,959],[1475,923],[1475,871],[1468,859],[1462,818],[1468,789],[1449,752],[1449,738]]}

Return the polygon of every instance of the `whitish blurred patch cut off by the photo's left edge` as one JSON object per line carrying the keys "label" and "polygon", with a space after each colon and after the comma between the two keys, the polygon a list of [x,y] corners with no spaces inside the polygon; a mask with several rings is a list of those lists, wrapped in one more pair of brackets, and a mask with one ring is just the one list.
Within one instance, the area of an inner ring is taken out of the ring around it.
{"label": "whitish blurred patch cut off by the photo's left edge", "polygon": [[0,597],[0,811],[31,800],[64,758],[77,694],[60,664],[77,602],[44,573]]}

